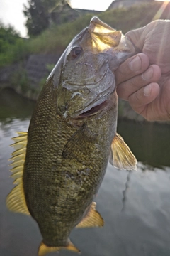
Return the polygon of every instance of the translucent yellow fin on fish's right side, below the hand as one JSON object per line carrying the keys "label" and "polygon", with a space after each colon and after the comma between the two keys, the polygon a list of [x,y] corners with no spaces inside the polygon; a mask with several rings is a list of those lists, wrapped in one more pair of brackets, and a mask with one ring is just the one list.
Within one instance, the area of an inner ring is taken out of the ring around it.
{"label": "translucent yellow fin on fish's right side, below the hand", "polygon": [[130,151],[130,148],[125,144],[123,138],[119,134],[115,134],[111,144],[110,164],[126,170],[136,170],[137,159]]}

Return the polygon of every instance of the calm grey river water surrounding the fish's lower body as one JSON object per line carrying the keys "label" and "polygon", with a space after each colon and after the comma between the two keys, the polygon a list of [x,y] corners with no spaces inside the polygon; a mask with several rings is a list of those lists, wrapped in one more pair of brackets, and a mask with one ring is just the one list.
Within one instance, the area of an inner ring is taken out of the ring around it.
{"label": "calm grey river water surrounding the fish's lower body", "polygon": [[[6,208],[13,188],[8,158],[16,131],[27,131],[34,102],[0,93],[0,256],[35,256],[42,240],[35,221]],[[103,228],[73,230],[82,256],[170,255],[170,126],[119,120],[118,132],[137,157],[137,171],[108,164],[96,197]],[[51,253],[49,255],[57,255]],[[76,255],[63,250],[62,256]]]}

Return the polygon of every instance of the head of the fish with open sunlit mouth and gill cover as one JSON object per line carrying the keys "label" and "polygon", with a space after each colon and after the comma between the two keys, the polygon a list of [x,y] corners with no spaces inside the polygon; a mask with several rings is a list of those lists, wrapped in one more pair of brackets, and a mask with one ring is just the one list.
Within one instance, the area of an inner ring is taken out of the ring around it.
{"label": "head of the fish with open sunlit mouth and gill cover", "polygon": [[[94,17],[64,51],[52,71],[57,88],[57,112],[64,118],[94,115],[115,92],[114,70],[135,54],[121,31]],[[55,73],[60,68],[60,78]]]}

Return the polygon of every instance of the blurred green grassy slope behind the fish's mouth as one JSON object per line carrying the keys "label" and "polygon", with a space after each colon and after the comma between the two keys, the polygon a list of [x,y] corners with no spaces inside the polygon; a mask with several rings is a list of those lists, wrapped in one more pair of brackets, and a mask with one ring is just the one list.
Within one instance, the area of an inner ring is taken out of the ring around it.
{"label": "blurred green grassy slope behind the fish's mouth", "polygon": [[[108,23],[115,29],[120,29],[123,33],[134,28],[140,28],[157,18],[170,19],[169,5],[162,11],[162,2],[152,2],[148,4],[132,6],[130,9],[113,9],[98,15],[102,21]],[[62,15],[62,14],[61,14]],[[65,14],[64,14],[65,15]],[[39,36],[25,39],[19,38],[12,28],[0,30],[0,67],[24,60],[33,53],[62,53],[68,43],[85,26],[88,26],[91,14],[86,14],[76,21],[53,24]],[[6,36],[3,35],[6,34]]]}

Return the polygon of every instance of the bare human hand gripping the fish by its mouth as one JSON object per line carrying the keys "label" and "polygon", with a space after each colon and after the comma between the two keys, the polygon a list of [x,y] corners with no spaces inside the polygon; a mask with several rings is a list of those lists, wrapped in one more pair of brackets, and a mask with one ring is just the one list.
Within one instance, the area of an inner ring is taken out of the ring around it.
{"label": "bare human hand gripping the fish by its mouth", "polygon": [[116,70],[118,96],[147,120],[169,120],[170,21],[153,21],[125,36],[142,53]]}

